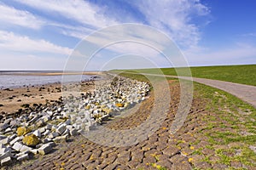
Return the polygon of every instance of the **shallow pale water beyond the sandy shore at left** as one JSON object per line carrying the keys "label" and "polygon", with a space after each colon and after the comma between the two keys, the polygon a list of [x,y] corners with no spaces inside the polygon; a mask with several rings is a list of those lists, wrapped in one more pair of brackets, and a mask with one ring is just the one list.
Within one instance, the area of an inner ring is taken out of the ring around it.
{"label": "shallow pale water beyond the sandy shore at left", "polygon": [[[45,73],[42,71],[39,73]],[[26,86],[43,85],[48,83],[61,82],[62,76],[27,76],[26,73],[33,73],[32,71],[0,71],[0,88],[20,88]],[[38,71],[37,71],[38,73]],[[19,75],[16,75],[19,74]],[[90,80],[89,75],[66,75],[65,82],[77,82],[76,80],[86,81]]]}

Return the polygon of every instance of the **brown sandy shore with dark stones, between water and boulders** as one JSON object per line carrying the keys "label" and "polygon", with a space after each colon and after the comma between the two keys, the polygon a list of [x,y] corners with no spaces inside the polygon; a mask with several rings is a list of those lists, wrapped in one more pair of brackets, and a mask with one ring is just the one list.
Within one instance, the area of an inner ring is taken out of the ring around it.
{"label": "brown sandy shore with dark stones, between water and boulders", "polygon": [[[93,82],[83,82],[83,92],[94,88]],[[62,96],[61,83],[45,84],[26,88],[5,88],[0,90],[0,113],[11,114],[24,105],[54,102]]]}

